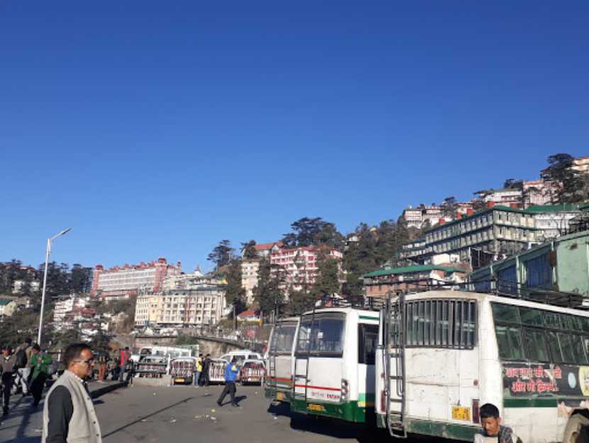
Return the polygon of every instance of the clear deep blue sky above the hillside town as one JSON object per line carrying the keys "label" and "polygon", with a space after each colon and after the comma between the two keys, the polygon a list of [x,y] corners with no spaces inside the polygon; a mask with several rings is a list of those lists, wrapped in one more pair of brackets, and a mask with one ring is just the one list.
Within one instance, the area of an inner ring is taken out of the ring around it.
{"label": "clear deep blue sky above the hillside town", "polygon": [[0,260],[342,232],[589,154],[589,4],[0,3]]}

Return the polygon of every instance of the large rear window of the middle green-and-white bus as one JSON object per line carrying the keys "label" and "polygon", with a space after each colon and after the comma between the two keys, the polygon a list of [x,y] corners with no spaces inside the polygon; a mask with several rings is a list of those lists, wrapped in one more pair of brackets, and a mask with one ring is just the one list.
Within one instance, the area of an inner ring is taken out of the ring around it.
{"label": "large rear window of the middle green-and-white bus", "polygon": [[311,315],[301,318],[298,330],[297,353],[313,355],[342,355],[344,350],[344,313],[315,314],[313,324]]}

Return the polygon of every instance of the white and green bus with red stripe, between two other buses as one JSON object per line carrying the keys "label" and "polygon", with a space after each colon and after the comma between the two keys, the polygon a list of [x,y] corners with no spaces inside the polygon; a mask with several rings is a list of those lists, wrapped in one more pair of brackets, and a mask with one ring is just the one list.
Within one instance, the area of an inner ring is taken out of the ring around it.
{"label": "white and green bus with red stripe, between two other buses", "polygon": [[320,308],[301,316],[291,410],[350,422],[374,417],[378,311]]}

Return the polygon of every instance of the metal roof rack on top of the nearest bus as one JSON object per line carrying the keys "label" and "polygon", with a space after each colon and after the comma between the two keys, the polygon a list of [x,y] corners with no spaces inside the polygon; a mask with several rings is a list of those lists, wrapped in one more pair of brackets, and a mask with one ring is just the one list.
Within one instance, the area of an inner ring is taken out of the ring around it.
{"label": "metal roof rack on top of the nearest bus", "polygon": [[[439,290],[488,293],[494,296],[518,298],[525,301],[560,306],[561,308],[589,310],[589,296],[583,296],[578,293],[556,291],[550,288],[527,286],[525,284],[518,284],[515,281],[507,281],[503,279],[477,280],[465,283],[416,285],[413,288],[405,291],[397,291],[396,293],[402,292],[408,294]],[[392,295],[394,295],[394,293],[392,293]]]}

